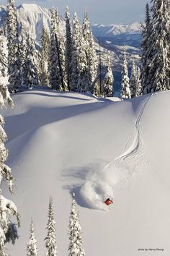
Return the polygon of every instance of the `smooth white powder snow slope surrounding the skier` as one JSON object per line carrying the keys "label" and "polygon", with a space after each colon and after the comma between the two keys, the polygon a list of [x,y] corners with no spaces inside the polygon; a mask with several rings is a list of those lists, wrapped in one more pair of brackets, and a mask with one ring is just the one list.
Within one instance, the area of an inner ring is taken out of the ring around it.
{"label": "smooth white powder snow slope surrounding the skier", "polygon": [[36,88],[13,100],[3,115],[22,227],[11,256],[26,253],[31,217],[45,254],[49,195],[68,255],[73,190],[86,255],[170,255],[169,91],[119,101]]}

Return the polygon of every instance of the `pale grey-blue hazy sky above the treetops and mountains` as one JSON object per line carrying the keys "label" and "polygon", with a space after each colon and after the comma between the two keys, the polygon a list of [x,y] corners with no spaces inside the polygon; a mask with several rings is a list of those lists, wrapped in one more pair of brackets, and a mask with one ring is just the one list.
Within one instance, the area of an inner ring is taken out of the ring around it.
{"label": "pale grey-blue hazy sky above the treetops and mountains", "polygon": [[[87,8],[91,24],[108,25],[143,21],[147,0],[15,0],[15,2],[17,6],[22,3],[34,3],[42,7],[58,7],[62,16],[68,5],[71,16],[73,12],[77,12],[80,21],[84,16],[84,9]],[[6,1],[2,0],[1,3],[6,4]]]}

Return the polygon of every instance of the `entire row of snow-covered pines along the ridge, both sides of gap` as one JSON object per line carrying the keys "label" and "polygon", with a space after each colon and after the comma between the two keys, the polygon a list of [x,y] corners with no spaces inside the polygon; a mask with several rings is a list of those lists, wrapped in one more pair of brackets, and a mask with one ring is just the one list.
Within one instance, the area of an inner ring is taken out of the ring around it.
{"label": "entire row of snow-covered pines along the ridge, both sides of gap", "polygon": [[[106,74],[101,76],[101,58],[97,57],[94,37],[87,12],[81,26],[75,13],[70,20],[66,7],[66,30],[61,33],[58,9],[51,11],[50,36],[42,28],[40,51],[35,49],[32,35],[18,26],[14,0],[7,6],[8,74],[12,92],[23,85],[48,85],[54,90],[92,93],[98,97],[114,94],[112,61],[108,51]],[[158,90],[169,90],[170,69],[170,4],[169,0],[154,0],[146,6],[146,22],[143,27],[140,61],[137,65],[131,56],[131,76],[128,77],[128,63],[124,49],[122,61],[121,98],[134,98]],[[21,32],[19,32],[21,30]],[[1,69],[5,56],[0,49]],[[140,72],[141,69],[141,72]]]}

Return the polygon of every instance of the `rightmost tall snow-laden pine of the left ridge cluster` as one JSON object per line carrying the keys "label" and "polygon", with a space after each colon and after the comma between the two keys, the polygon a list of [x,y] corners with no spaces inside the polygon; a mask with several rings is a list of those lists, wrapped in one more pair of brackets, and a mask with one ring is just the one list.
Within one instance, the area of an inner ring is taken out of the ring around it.
{"label": "rightmost tall snow-laden pine of the left ridge cluster", "polygon": [[89,17],[87,12],[84,15],[84,22],[82,26],[84,40],[85,40],[85,50],[86,50],[86,59],[87,59],[87,66],[88,66],[88,87],[87,90],[94,93],[94,81],[97,78],[97,71],[98,71],[98,59],[97,59],[97,52],[95,50],[95,43],[94,37],[91,31],[91,25],[89,23]]}

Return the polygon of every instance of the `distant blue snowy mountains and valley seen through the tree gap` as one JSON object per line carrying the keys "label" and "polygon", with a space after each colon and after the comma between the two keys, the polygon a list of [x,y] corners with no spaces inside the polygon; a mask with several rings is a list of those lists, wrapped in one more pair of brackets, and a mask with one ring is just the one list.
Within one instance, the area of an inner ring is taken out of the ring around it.
{"label": "distant blue snowy mountains and valley seen through the tree gap", "polygon": [[[128,52],[128,62],[131,63],[131,56],[139,59],[141,42],[141,25],[134,22],[130,25],[92,25],[94,37],[100,41],[104,49],[111,51],[117,56],[115,71],[120,72],[120,59],[122,58],[123,47]],[[117,61],[119,59],[119,61]]]}

